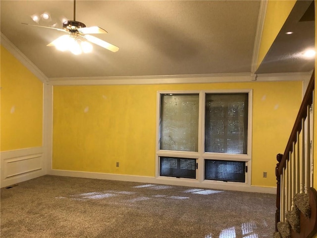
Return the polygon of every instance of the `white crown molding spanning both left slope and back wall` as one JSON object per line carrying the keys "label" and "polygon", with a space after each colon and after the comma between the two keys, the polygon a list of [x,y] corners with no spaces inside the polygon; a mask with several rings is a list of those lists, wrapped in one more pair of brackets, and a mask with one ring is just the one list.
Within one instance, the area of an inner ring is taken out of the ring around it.
{"label": "white crown molding spanning both left slope and back wall", "polygon": [[[266,0],[265,0],[266,1]],[[28,68],[43,83],[49,85],[140,85],[140,84],[184,84],[184,83],[231,83],[251,81],[298,81],[309,79],[312,72],[296,73],[222,73],[123,77],[70,77],[48,78],[31,60],[17,49],[2,33],[0,44]]]}

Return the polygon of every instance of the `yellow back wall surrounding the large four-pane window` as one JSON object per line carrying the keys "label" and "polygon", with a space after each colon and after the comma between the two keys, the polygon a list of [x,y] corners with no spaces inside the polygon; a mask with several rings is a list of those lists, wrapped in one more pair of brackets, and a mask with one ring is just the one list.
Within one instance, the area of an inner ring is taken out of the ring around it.
{"label": "yellow back wall surrounding the large four-pane window", "polygon": [[276,154],[301,104],[299,81],[54,86],[53,169],[154,177],[157,91],[208,89],[253,89],[252,184],[275,186]]}

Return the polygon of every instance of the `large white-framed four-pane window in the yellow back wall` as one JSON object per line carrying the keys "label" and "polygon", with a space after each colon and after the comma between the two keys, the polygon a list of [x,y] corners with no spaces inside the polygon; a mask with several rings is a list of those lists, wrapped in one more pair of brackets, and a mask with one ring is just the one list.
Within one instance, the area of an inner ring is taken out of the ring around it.
{"label": "large white-framed four-pane window in the yellow back wall", "polygon": [[157,175],[248,182],[251,97],[251,90],[159,92]]}

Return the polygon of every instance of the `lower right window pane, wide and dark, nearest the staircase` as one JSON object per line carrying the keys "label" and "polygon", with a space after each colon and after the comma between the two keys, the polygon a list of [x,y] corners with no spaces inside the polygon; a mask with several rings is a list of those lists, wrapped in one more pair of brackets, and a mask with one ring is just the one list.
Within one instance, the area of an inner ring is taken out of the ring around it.
{"label": "lower right window pane, wide and dark, nearest the staircase", "polygon": [[205,160],[205,179],[245,182],[244,161]]}

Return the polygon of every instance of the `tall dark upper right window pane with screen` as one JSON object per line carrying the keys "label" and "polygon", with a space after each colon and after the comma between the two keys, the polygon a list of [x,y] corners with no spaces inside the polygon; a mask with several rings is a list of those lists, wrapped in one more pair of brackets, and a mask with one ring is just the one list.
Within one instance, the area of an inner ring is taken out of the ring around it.
{"label": "tall dark upper right window pane with screen", "polygon": [[206,94],[205,152],[247,154],[248,93]]}

